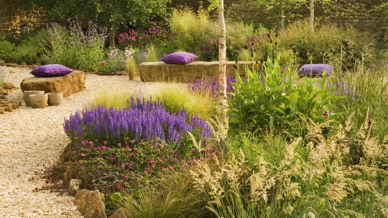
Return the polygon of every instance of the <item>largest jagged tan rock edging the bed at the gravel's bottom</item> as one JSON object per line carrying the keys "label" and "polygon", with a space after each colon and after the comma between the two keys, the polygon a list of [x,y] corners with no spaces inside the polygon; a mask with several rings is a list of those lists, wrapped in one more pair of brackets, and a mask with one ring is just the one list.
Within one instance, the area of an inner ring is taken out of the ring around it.
{"label": "largest jagged tan rock edging the bed at the gravel's bottom", "polygon": [[106,218],[104,194],[98,190],[89,191],[82,189],[75,194],[74,204],[84,218]]}

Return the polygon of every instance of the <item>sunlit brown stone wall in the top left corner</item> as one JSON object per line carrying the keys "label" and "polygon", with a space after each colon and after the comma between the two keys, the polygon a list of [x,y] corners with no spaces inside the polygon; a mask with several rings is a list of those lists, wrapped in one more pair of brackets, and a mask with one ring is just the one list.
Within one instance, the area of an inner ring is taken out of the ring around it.
{"label": "sunlit brown stone wall in the top left corner", "polygon": [[28,23],[29,31],[34,31],[45,26],[45,13],[42,7],[22,10],[20,7],[21,4],[23,4],[23,0],[0,0],[1,35],[7,34],[13,25],[26,29],[25,24]]}

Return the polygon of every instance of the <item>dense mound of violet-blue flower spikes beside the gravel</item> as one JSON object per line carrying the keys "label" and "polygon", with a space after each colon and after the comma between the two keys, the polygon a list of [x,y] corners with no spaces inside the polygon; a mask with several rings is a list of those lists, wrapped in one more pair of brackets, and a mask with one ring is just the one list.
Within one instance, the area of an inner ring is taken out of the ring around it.
{"label": "dense mound of violet-blue flower spikes beside the gravel", "polygon": [[142,138],[158,143],[160,139],[177,147],[187,137],[188,131],[197,134],[199,139],[209,138],[212,134],[203,119],[197,115],[188,116],[185,109],[170,113],[159,100],[152,103],[151,100],[135,100],[133,97],[128,104],[127,109],[118,111],[104,106],[77,111],[65,119],[64,130],[71,138],[107,138],[109,142],[118,144],[126,135],[135,141]]}

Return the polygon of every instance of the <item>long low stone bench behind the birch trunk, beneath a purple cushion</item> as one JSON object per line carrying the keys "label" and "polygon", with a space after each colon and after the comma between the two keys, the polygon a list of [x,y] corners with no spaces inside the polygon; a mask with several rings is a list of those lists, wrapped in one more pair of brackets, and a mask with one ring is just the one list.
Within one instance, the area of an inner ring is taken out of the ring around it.
{"label": "long low stone bench behind the birch trunk, beneath a purple cushion", "polygon": [[[239,62],[239,74],[245,75],[244,66],[251,68],[251,61]],[[189,64],[166,64],[164,62],[145,62],[140,64],[139,73],[140,79],[145,82],[159,82],[159,81],[173,81],[173,82],[187,82],[188,79],[195,80],[206,78],[213,78],[218,76],[218,61],[194,61]],[[234,61],[227,61],[226,74],[235,75],[236,65]],[[256,66],[256,65],[255,65]],[[262,64],[257,64],[261,67]]]}

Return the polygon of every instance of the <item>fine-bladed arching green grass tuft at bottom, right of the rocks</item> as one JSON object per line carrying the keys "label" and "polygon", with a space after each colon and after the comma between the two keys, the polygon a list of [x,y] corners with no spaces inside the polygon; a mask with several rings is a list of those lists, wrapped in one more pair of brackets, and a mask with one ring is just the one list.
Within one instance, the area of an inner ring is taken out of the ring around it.
{"label": "fine-bladed arching green grass tuft at bottom, right of the rocks", "polygon": [[131,218],[182,218],[202,217],[207,213],[204,193],[192,185],[186,171],[173,170],[159,183],[139,190],[137,196],[125,194],[123,201],[116,202],[124,208],[123,215]]}

